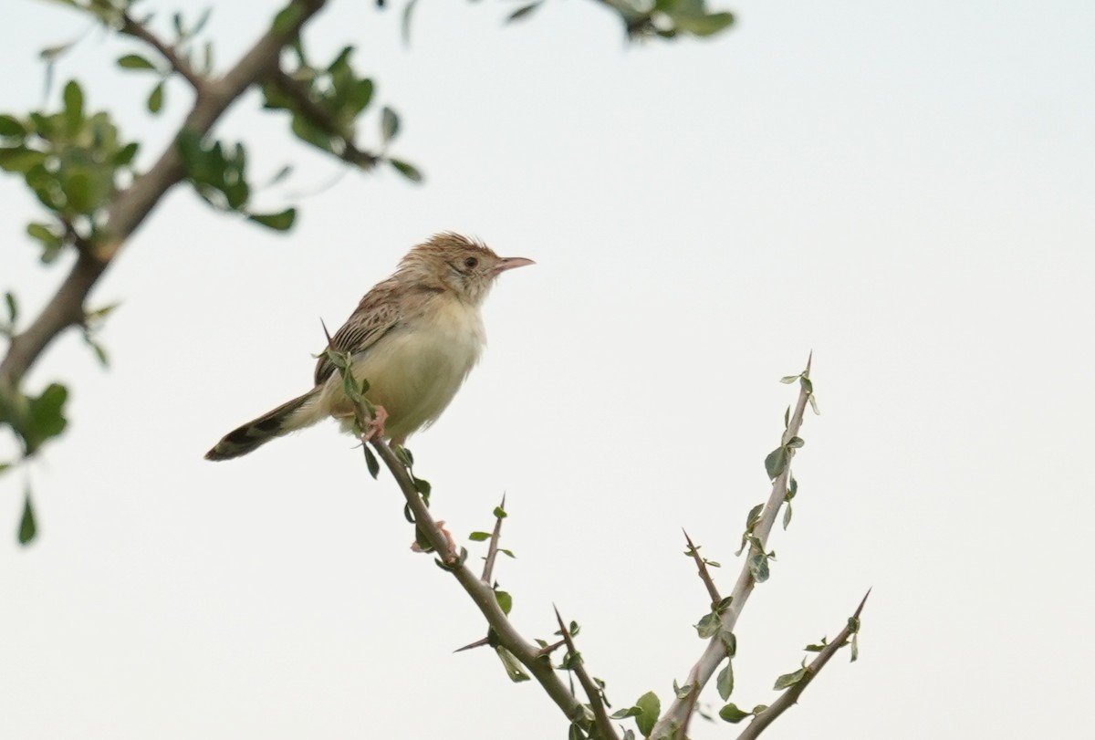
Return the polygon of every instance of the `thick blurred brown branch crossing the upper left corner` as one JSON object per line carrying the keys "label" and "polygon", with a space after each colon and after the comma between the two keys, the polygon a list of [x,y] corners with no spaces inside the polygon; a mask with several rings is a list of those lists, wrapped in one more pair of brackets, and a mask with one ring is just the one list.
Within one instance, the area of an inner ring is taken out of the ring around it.
{"label": "thick blurred brown branch crossing the upper left corner", "polygon": [[[291,22],[272,27],[227,74],[199,89],[182,129],[207,134],[247,88],[277,68],[285,45],[325,4],[326,0],[290,0],[283,12],[290,11]],[[184,175],[183,161],[172,140],[148,172],[114,195],[106,209],[102,235],[93,248],[80,252],[76,264],[42,312],[26,329],[12,337],[8,354],[0,362],[0,390],[18,388],[45,348],[66,328],[83,321],[83,302],[88,293],[164,194]]]}

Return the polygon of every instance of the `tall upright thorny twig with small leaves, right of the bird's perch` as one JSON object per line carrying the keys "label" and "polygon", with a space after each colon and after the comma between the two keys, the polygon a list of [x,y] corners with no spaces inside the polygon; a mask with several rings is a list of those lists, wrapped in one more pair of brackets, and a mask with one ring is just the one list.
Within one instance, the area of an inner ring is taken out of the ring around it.
{"label": "tall upright thorny twig with small leaves, right of the bird's perch", "polygon": [[[804,377],[809,377],[812,357],[811,352],[810,358],[806,361],[806,370],[803,372]],[[803,384],[798,393],[798,402],[795,405],[795,411],[787,420],[787,428],[783,432],[783,444],[791,441],[793,437],[798,436],[798,430],[803,426],[803,415],[806,412],[809,397],[810,393],[806,390],[805,384]],[[791,449],[788,454],[793,455],[794,449]],[[768,535],[772,531],[772,527],[775,524],[776,516],[780,512],[780,507],[783,505],[784,497],[787,493],[787,481],[789,479],[789,476],[791,463],[788,461],[784,471],[772,482],[772,492],[768,497],[768,501],[765,502],[764,509],[760,514],[760,519],[753,525],[752,535],[757,539],[757,543],[759,543],[761,552],[763,552],[763,547],[768,543]],[[756,586],[752,571],[749,569],[749,556],[757,552],[757,550],[758,545],[752,544],[750,545],[749,552],[746,553],[746,562],[741,566],[741,573],[738,576],[737,583],[734,586],[734,591],[730,593],[730,605],[723,612],[722,629],[725,632],[734,632],[734,625],[737,624],[738,616],[741,615],[741,610],[745,609],[745,605],[749,601],[749,597],[752,593],[753,586]],[[693,685],[693,691],[696,695],[699,695],[699,692],[703,691],[703,687],[707,685],[711,677],[714,675],[715,670],[725,658],[726,646],[719,635],[716,634],[711,638],[711,641],[707,643],[707,647],[704,648],[700,659],[689,670],[689,683]],[[691,696],[685,696],[684,698],[675,697],[673,702],[669,705],[665,713],[662,713],[661,717],[654,726],[654,731],[650,737],[671,737],[672,728],[679,728],[685,724],[694,702],[695,699],[691,698]]]}

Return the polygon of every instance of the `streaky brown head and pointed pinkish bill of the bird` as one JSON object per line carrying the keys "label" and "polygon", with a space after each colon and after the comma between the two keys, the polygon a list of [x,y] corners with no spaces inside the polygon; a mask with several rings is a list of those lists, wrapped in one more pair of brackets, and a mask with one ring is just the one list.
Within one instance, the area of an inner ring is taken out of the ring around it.
{"label": "streaky brown head and pointed pinkish bill of the bird", "polygon": [[482,242],[446,232],[411,250],[400,262],[399,271],[479,305],[502,273],[532,264],[525,257],[499,257]]}

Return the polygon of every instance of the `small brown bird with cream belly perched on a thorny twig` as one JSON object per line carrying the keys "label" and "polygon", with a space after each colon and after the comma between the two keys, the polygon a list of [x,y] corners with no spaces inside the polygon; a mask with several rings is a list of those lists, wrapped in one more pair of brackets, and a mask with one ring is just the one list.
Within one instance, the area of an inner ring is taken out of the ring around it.
{"label": "small brown bird with cream belly perched on a thorny twig", "polygon": [[[333,337],[328,349],[349,357],[354,379],[368,381],[376,435],[403,446],[438,419],[475,366],[486,343],[480,309],[506,270],[535,264],[499,257],[481,241],[453,232],[413,247],[385,280],[373,286]],[[206,460],[230,460],[321,421],[354,428],[355,405],[324,352],[314,386],[224,435]]]}

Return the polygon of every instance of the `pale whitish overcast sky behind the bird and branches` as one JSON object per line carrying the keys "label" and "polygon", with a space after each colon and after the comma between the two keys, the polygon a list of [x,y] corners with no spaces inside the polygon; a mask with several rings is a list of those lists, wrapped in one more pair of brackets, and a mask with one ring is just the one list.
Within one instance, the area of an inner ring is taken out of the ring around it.
{"label": "pale whitish overcast sky behind the bird and branches", "polygon": [[[24,112],[37,51],[89,23],[8,4],[0,109]],[[142,3],[161,30],[191,4]],[[221,65],[275,7],[219,3]],[[669,702],[707,606],[681,528],[728,592],[795,397],[779,379],[812,349],[821,416],[738,623],[731,701],[771,703],[873,587],[860,661],[841,654],[765,737],[1087,737],[1095,5],[748,0],[713,41],[632,47],[595,3],[503,28],[514,7],[420,2],[405,47],[401,8],[334,2],[315,58],[358,45],[426,184],[339,176],[251,95],[217,132],[258,181],[296,166],[260,204],[298,205],[298,228],[176,188],[93,293],[122,302],[110,370],[74,334],[35,367],[28,390],[69,384],[71,424],[0,477],[0,733],[565,737],[537,684],[452,654],[482,617],[408,550],[394,483],[334,424],[201,459],[308,390],[321,317],[337,326],[413,244],[457,230],[538,264],[502,277],[480,367],[408,447],[461,540],[508,496],[517,559],[496,577],[527,637],[551,636],[557,604],[615,708]],[[91,31],[56,74],[145,140],[147,165],[188,96],[173,83],[150,122],[151,78],[113,67],[137,49]],[[0,197],[0,290],[32,315],[64,266],[38,266],[21,184]],[[26,475],[39,536],[21,548]],[[714,686],[704,703],[722,705]]]}

